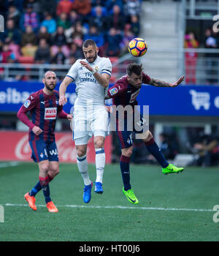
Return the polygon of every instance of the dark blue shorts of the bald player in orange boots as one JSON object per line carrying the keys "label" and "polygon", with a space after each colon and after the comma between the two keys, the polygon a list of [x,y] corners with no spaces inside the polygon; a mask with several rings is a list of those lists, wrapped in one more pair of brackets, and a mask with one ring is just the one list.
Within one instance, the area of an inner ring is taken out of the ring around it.
{"label": "dark blue shorts of the bald player in orange boots", "polygon": [[58,149],[55,141],[30,140],[32,155],[34,162],[43,160],[58,161]]}

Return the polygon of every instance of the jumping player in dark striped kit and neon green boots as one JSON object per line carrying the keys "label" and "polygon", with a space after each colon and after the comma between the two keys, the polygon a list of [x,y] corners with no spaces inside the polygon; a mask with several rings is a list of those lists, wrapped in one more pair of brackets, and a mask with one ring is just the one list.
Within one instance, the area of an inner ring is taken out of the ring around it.
{"label": "jumping player in dark striped kit and neon green boots", "polygon": [[[150,78],[144,72],[142,72],[142,65],[138,64],[128,64],[127,67],[127,74],[117,80],[114,86],[112,86],[107,91],[106,99],[112,98],[113,105],[116,107],[118,105],[122,105],[124,108],[128,105],[131,105],[133,111],[131,111],[131,118],[133,120],[133,131],[140,135],[140,137],[145,142],[145,146],[150,154],[155,157],[158,163],[162,167],[162,172],[164,174],[169,173],[179,173],[184,170],[183,167],[176,167],[169,162],[166,161],[164,155],[161,153],[158,145],[155,143],[153,139],[153,135],[150,130],[144,130],[143,124],[145,123],[145,119],[142,115],[139,116],[140,120],[134,122],[134,106],[137,105],[137,96],[141,89],[142,83],[149,84],[151,86],[161,86],[161,87],[175,87],[178,86],[183,80],[184,76],[179,78],[175,83],[166,83],[162,80]],[[120,157],[120,171],[123,178],[123,193],[128,198],[129,202],[131,203],[139,203],[139,200],[134,195],[134,191],[131,189],[130,184],[130,173],[129,173],[129,161],[132,154],[132,138],[131,133],[132,129],[128,129],[128,116],[124,115],[124,119],[120,120],[118,118],[118,113],[116,113],[116,134],[118,136],[118,140],[120,142],[120,148],[122,151],[122,155]],[[121,122],[124,124],[124,129],[120,130]],[[139,124],[138,127],[136,126],[137,123]],[[142,127],[142,129],[141,129]]]}

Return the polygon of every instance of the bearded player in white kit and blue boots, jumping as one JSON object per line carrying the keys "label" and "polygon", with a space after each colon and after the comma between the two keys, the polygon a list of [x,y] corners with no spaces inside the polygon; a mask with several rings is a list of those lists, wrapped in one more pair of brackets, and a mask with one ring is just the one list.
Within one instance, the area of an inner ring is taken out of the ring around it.
{"label": "bearded player in white kit and blue boots, jumping", "polygon": [[67,86],[76,84],[77,99],[74,102],[73,140],[77,151],[77,167],[82,175],[85,187],[83,200],[91,200],[93,183],[88,174],[86,159],[88,139],[93,136],[96,151],[95,192],[103,192],[103,174],[105,166],[104,140],[108,132],[108,113],[104,107],[109,87],[112,64],[109,58],[99,57],[99,48],[92,39],[83,42],[85,59],[77,60],[69,69],[60,85],[59,104],[66,103]]}

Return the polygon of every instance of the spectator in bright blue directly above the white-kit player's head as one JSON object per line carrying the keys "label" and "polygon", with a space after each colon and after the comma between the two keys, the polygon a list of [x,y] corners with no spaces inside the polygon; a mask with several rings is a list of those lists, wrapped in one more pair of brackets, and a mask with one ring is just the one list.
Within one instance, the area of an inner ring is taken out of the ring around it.
{"label": "spectator in bright blue directly above the white-kit player's head", "polygon": [[104,34],[98,30],[96,26],[91,26],[88,34],[85,34],[84,40],[93,39],[96,46],[99,48],[99,56],[103,56],[104,51]]}

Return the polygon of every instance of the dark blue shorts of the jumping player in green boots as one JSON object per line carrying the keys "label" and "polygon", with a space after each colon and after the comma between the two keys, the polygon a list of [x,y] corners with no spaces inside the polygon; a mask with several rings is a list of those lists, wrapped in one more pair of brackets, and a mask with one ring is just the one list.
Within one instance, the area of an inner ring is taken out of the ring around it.
{"label": "dark blue shorts of the jumping player in green boots", "polygon": [[[143,125],[145,124],[146,120],[145,118],[140,115],[140,120],[135,122],[134,117],[133,117],[133,124],[131,126],[132,129],[129,129],[128,127],[128,121],[127,118],[124,118],[124,124],[123,121],[120,119],[116,119],[116,134],[118,136],[118,140],[120,143],[120,148],[129,148],[132,146],[133,141],[132,141],[132,132],[134,133],[142,133],[144,132],[143,130]],[[123,130],[121,127],[123,127]]]}

